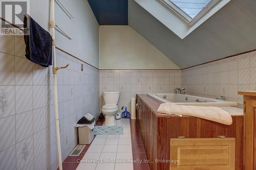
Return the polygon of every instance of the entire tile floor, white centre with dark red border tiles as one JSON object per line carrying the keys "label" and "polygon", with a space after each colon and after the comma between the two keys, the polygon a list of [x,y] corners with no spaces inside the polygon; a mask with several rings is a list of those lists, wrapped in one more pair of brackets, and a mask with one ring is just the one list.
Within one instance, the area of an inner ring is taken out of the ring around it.
{"label": "entire tile floor, white centre with dark red border tiles", "polygon": [[[101,126],[104,120],[98,120]],[[95,135],[79,156],[69,156],[63,162],[68,170],[149,170],[148,163],[132,163],[130,160],[146,159],[144,145],[136,120],[120,119],[116,125],[124,127],[122,135]],[[83,162],[77,163],[77,159]]]}

